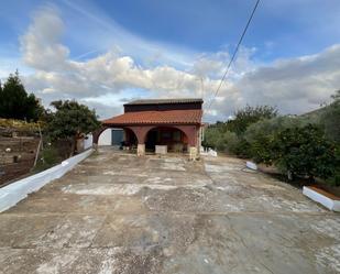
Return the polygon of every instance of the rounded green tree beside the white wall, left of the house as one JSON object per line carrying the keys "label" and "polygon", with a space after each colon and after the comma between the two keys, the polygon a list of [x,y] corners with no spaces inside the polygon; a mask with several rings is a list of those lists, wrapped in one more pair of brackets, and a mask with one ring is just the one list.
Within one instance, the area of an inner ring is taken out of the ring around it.
{"label": "rounded green tree beside the white wall, left of the house", "polygon": [[48,132],[53,139],[66,139],[72,144],[72,154],[76,151],[79,138],[97,130],[100,122],[95,110],[75,100],[54,101],[51,103],[56,112],[50,117]]}

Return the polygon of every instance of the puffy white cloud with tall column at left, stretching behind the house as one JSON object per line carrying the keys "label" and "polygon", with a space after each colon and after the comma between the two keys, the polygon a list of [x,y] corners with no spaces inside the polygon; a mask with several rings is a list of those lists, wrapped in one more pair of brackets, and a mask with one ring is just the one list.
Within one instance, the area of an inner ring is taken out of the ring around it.
{"label": "puffy white cloud with tall column at left, stretching behind the house", "polygon": [[[25,84],[43,99],[56,99],[61,95],[81,99],[120,94],[131,88],[152,90],[154,97],[195,97],[200,92],[201,85],[194,73],[166,64],[136,65],[131,56],[114,48],[85,62],[73,61],[69,50],[61,43],[63,29],[63,21],[55,10],[42,9],[21,39],[23,61],[35,69],[24,78]],[[215,81],[207,79],[206,86],[213,88]]]}

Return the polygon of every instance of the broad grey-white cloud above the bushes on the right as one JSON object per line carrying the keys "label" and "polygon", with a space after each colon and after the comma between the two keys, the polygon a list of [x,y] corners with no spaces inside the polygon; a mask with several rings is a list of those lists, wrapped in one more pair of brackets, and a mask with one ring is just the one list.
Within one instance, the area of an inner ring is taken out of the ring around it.
{"label": "broad grey-white cloud above the bushes on the right", "polygon": [[316,109],[340,88],[340,45],[260,67],[235,88],[242,90],[244,102],[277,106],[284,113]]}

